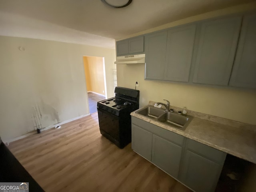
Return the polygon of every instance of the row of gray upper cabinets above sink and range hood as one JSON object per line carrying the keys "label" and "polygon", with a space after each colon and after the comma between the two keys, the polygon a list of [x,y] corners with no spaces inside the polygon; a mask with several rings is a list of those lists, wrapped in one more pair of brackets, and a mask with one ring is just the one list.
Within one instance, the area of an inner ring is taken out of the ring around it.
{"label": "row of gray upper cabinets above sink and range hood", "polygon": [[242,18],[205,20],[121,40],[116,54],[145,53],[148,80],[256,88],[256,14]]}

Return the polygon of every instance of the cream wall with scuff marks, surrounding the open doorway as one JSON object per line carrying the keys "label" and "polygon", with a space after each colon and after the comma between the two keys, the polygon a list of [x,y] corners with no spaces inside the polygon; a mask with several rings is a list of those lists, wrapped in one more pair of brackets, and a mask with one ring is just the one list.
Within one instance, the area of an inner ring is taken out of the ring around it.
{"label": "cream wall with scuff marks, surrounding the open doorway", "polygon": [[0,36],[2,140],[89,114],[84,55],[104,57],[107,96],[114,96],[114,49]]}

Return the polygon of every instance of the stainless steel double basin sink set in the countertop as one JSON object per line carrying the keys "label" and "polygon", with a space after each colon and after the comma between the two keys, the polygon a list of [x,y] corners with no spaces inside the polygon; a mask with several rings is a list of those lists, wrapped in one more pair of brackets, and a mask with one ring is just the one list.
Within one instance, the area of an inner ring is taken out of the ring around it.
{"label": "stainless steel double basin sink set in the countertop", "polygon": [[136,110],[134,113],[146,116],[152,120],[156,120],[180,130],[185,130],[193,118],[189,115],[183,116],[177,112],[167,112],[162,108],[156,108],[154,106],[146,106]]}

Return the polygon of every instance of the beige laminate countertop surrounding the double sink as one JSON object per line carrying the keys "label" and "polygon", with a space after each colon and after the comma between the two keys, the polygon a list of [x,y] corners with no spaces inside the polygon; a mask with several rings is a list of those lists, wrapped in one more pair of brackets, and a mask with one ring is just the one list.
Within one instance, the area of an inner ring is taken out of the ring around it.
{"label": "beige laminate countertop surrounding the double sink", "polygon": [[[149,104],[153,106],[154,103]],[[175,110],[175,107],[171,108]],[[254,125],[187,110],[193,119],[183,131],[135,112],[132,112],[131,116],[256,164],[256,126]]]}

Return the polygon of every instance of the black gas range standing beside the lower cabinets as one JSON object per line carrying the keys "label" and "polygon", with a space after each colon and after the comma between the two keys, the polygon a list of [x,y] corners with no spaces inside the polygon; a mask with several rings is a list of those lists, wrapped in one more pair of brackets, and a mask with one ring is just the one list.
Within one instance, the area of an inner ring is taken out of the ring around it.
{"label": "black gas range standing beside the lower cabinets", "polygon": [[116,87],[115,97],[97,103],[100,133],[124,148],[131,142],[130,113],[139,108],[140,91]]}

